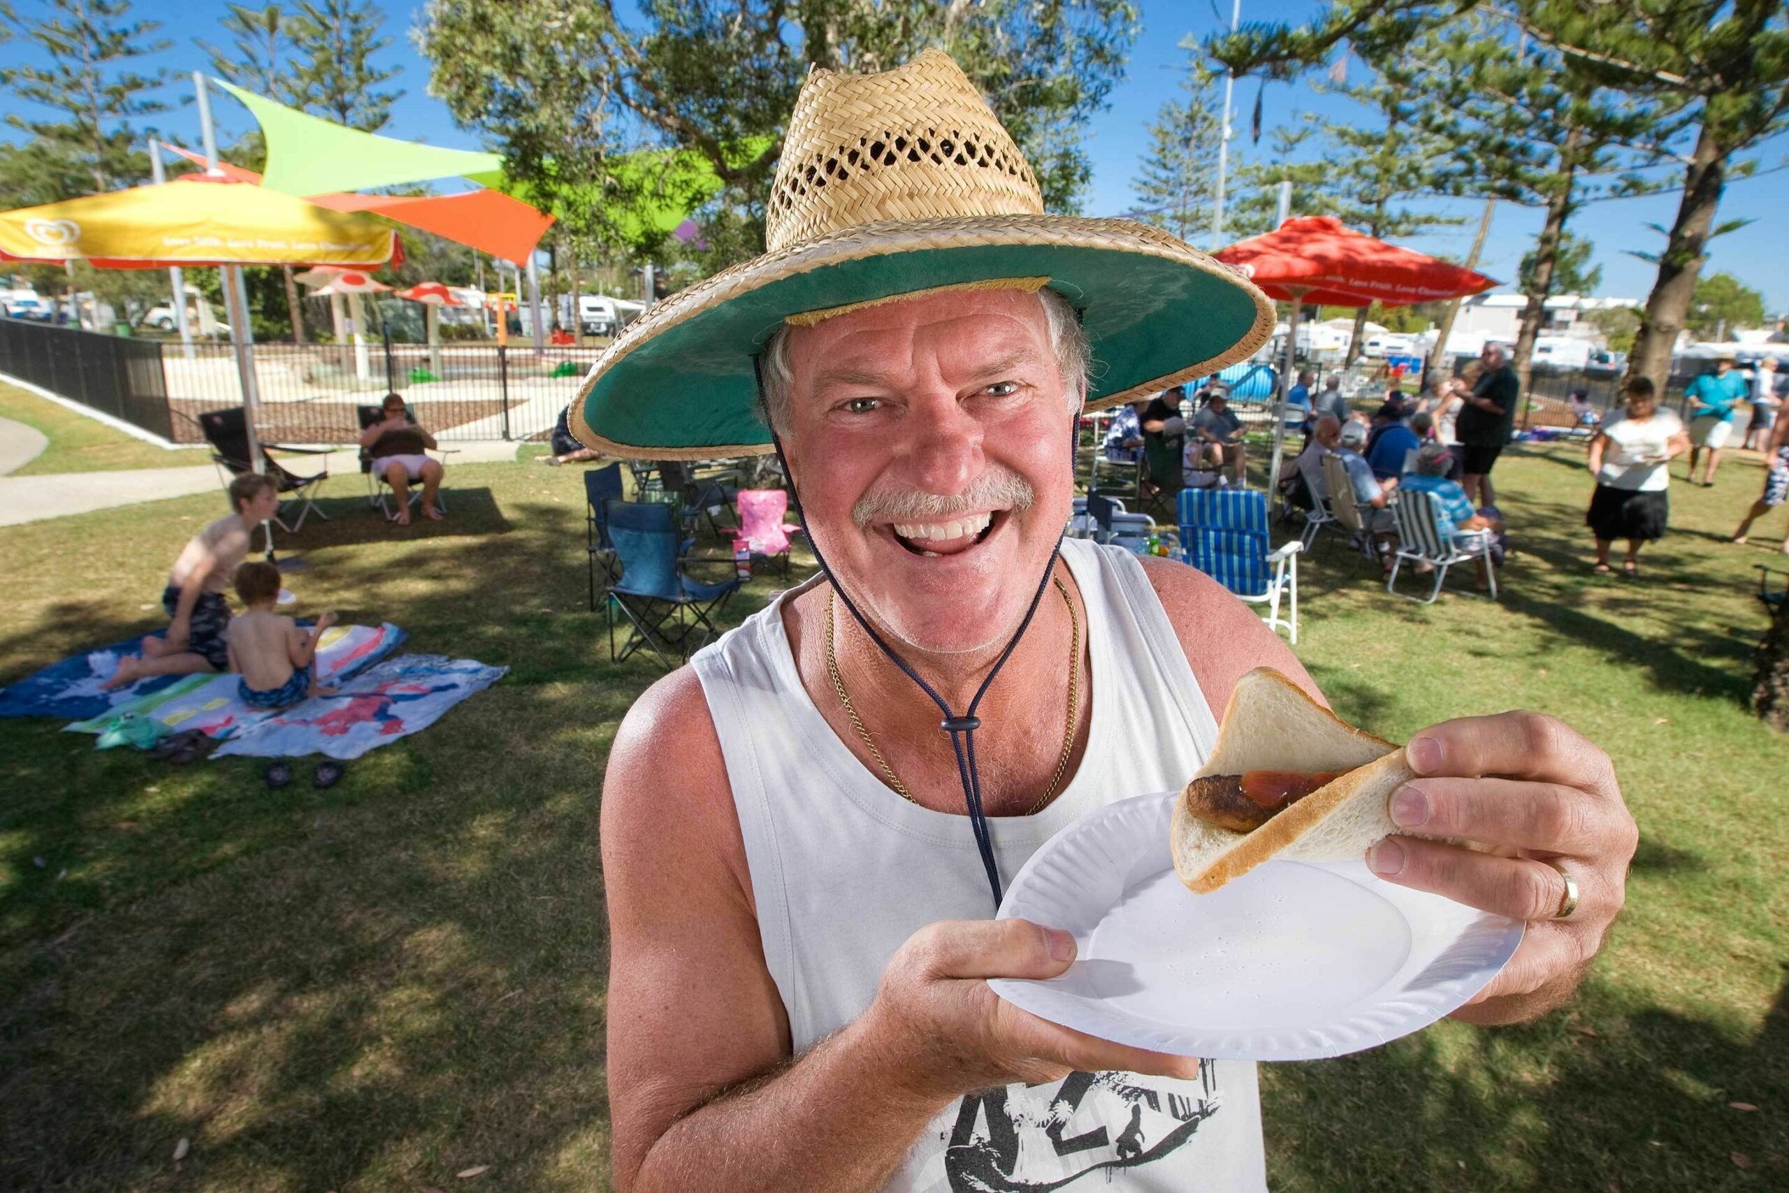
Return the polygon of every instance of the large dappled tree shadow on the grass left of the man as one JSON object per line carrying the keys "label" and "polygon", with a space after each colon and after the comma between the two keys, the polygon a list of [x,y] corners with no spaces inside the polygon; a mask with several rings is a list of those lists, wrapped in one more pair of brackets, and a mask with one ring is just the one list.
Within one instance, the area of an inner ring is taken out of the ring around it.
{"label": "large dappled tree shadow on the grass left of the man", "polygon": [[[295,612],[385,617],[410,651],[512,669],[335,789],[308,764],[270,792],[259,760],[175,769],[0,721],[18,792],[0,805],[0,1188],[161,1188],[179,1138],[191,1188],[445,1188],[476,1164],[601,1188],[599,785],[664,671],[608,660],[581,501],[472,494],[458,526],[404,540],[377,522],[299,538]],[[785,583],[760,576],[721,626]],[[66,601],[13,637],[132,628]]]}

